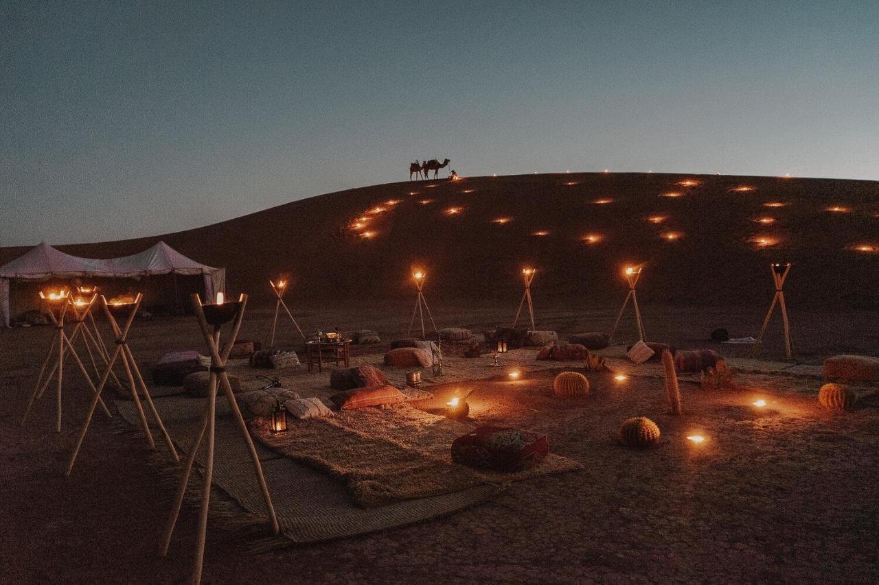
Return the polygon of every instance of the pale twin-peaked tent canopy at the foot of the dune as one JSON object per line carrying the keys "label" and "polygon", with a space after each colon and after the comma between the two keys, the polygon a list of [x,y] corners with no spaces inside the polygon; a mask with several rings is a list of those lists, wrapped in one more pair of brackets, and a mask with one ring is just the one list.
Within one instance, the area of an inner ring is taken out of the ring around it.
{"label": "pale twin-peaked tent canopy at the foot of the dune", "polygon": [[172,272],[183,275],[204,275],[207,299],[214,297],[214,291],[225,291],[226,288],[225,268],[212,268],[199,264],[165,242],[158,242],[139,254],[107,260],[70,256],[54,249],[46,242],[40,242],[24,255],[0,267],[0,309],[3,312],[4,323],[9,327],[11,280],[33,282],[49,278],[140,278]]}

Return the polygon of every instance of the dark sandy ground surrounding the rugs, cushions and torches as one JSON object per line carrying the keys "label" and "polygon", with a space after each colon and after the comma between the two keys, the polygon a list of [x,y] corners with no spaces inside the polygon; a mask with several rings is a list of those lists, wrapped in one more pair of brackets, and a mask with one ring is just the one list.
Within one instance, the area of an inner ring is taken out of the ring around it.
{"label": "dark sandy ground surrounding the rugs, cushions and torches", "polygon": [[[384,339],[400,335],[410,314],[408,304],[369,313],[293,308],[307,331],[369,327]],[[498,317],[507,321],[514,308],[435,310],[440,325],[484,329]],[[538,308],[541,326],[563,334],[608,329],[614,317],[610,307]],[[644,307],[650,338],[680,348],[705,346],[701,340],[722,325],[734,335],[752,335],[762,311]],[[875,355],[873,318],[792,314],[796,347],[811,363],[845,351]],[[261,339],[266,319],[265,311],[252,313],[242,336]],[[623,338],[633,330],[627,322]],[[0,581],[185,581],[196,513],[185,509],[169,556],[160,558],[156,545],[173,493],[149,466],[140,435],[115,433],[117,427],[98,416],[74,475],[63,477],[86,406],[78,376],[71,376],[64,394],[62,433],[54,432],[48,397],[32,422],[19,426],[51,333],[0,334]],[[164,350],[200,347],[191,318],[139,322],[132,337],[135,354],[147,365]],[[779,338],[773,329],[767,357],[781,355]],[[725,355],[745,351],[714,347]],[[534,410],[553,413],[541,430],[554,451],[580,461],[585,471],[514,485],[488,503],[430,523],[261,555],[248,553],[246,540],[213,523],[204,581],[879,579],[876,402],[834,414],[819,408],[814,396],[760,388],[704,394],[685,386],[686,415],[676,418],[665,414],[659,380],[630,379],[625,386],[601,376],[592,381],[594,392],[581,401],[556,401],[547,395],[551,377],[535,376],[512,393],[498,383],[476,384],[471,402],[472,415],[483,422],[529,426]],[[751,406],[758,394],[769,401],[760,411]],[[615,444],[616,427],[632,415],[660,425],[657,449],[627,451]],[[708,441],[689,444],[685,436],[694,431]]]}

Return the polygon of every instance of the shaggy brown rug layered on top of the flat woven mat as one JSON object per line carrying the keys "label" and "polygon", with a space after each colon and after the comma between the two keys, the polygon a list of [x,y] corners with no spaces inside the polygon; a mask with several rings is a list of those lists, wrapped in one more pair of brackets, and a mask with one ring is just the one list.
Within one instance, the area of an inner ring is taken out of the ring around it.
{"label": "shaggy brown rug layered on top of the flat woven mat", "polygon": [[291,424],[287,433],[274,434],[265,422],[255,420],[251,430],[275,451],[343,480],[354,502],[366,508],[583,468],[553,454],[518,473],[456,465],[452,441],[477,423],[454,422],[407,404],[346,410]]}

